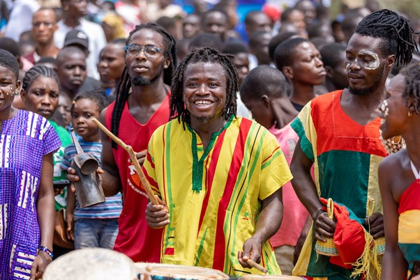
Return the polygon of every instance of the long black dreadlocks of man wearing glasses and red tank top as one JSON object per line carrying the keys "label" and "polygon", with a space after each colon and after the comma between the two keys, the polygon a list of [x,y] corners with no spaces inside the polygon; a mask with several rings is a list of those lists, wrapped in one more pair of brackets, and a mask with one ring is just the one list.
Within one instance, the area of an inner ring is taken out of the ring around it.
{"label": "long black dreadlocks of man wearing glasses and red tank top", "polygon": [[[135,29],[131,31],[128,35],[126,45],[130,43],[133,34],[141,29],[149,29],[151,31],[159,33],[160,36],[162,36],[163,45],[165,46],[165,56],[169,57],[170,59],[169,67],[163,70],[163,82],[165,84],[170,84],[172,81],[172,76],[174,75],[174,71],[175,69],[177,69],[177,42],[170,33],[165,31],[165,29],[158,26],[158,24],[149,22],[148,24],[140,24],[135,26]],[[128,94],[130,93],[130,88],[131,80],[130,76],[128,75],[126,66],[123,70],[123,74],[121,75],[121,79],[119,81],[119,85],[117,88],[117,96],[115,98],[114,110],[112,111],[111,118],[111,132],[117,137],[119,131],[119,120],[121,119],[121,114],[123,113],[123,108],[126,104]],[[115,143],[114,141],[112,141],[112,148],[117,148],[117,143]]]}

